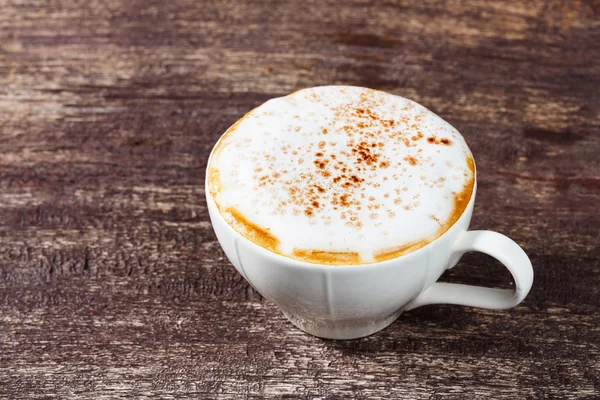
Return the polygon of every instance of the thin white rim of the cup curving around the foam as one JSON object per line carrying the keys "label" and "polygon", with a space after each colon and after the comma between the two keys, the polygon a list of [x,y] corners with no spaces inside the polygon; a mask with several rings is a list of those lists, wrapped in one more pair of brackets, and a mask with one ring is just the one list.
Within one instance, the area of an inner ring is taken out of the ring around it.
{"label": "thin white rim of the cup curving around the foam", "polygon": [[[433,243],[437,242],[438,240],[440,240],[441,238],[445,237],[447,234],[449,234],[450,232],[455,231],[457,228],[457,225],[459,225],[459,222],[461,220],[463,220],[465,218],[465,215],[467,214],[467,210],[470,207],[473,207],[473,203],[475,202],[475,194],[477,192],[477,165],[475,163],[475,158],[473,157],[473,154],[471,153],[471,158],[473,159],[473,190],[471,192],[471,197],[469,198],[469,201],[467,203],[467,206],[465,207],[465,209],[463,210],[462,214],[460,215],[460,217],[458,217],[458,219],[452,224],[452,226],[450,226],[450,228],[448,228],[448,230],[446,230],[446,232],[442,233],[440,236],[438,236],[437,238],[433,239],[431,242],[427,243],[425,246],[418,248],[417,250],[411,251],[410,253],[406,253],[406,254],[402,254],[398,257],[394,257],[391,258],[389,260],[384,260],[384,261],[376,261],[376,262],[372,262],[372,263],[363,263],[363,264],[333,264],[333,265],[328,265],[328,264],[316,264],[316,263],[310,263],[307,261],[301,261],[292,257],[288,257],[279,253],[275,253],[271,250],[265,249],[264,247],[254,243],[252,240],[246,238],[244,235],[242,235],[241,233],[239,233],[238,231],[236,231],[235,229],[233,229],[233,227],[231,225],[229,225],[227,223],[227,221],[225,220],[225,218],[223,217],[223,215],[221,214],[221,211],[219,210],[219,207],[217,206],[217,202],[215,201],[215,199],[213,198],[213,196],[210,193],[209,187],[208,187],[208,170],[210,168],[210,161],[212,159],[214,150],[217,148],[218,144],[221,142],[221,139],[223,138],[224,135],[222,135],[219,140],[217,141],[217,143],[215,143],[215,145],[213,146],[210,155],[208,156],[208,161],[206,164],[206,169],[205,169],[205,178],[204,178],[204,192],[205,192],[205,197],[206,197],[206,203],[207,203],[207,208],[209,208],[209,213],[210,213],[210,209],[212,208],[213,210],[215,210],[216,212],[213,214],[217,214],[217,215],[209,215],[211,218],[211,224],[212,224],[212,218],[218,218],[220,219],[220,221],[227,227],[227,229],[231,232],[233,232],[233,235],[238,238],[241,239],[242,241],[248,243],[251,247],[254,247],[256,251],[258,251],[259,253],[263,254],[263,256],[265,257],[269,257],[272,258],[273,261],[275,262],[279,262],[282,264],[287,264],[288,266],[292,265],[292,266],[296,266],[298,268],[318,268],[318,269],[323,269],[323,268],[331,268],[331,269],[350,269],[350,270],[362,270],[363,268],[377,268],[377,267],[384,267],[387,265],[390,265],[392,263],[397,263],[398,261],[402,260],[402,261],[406,261],[409,260],[411,258],[417,257],[419,254],[427,251],[429,248],[431,248],[431,246],[433,245]],[[213,227],[214,229],[214,227]]]}

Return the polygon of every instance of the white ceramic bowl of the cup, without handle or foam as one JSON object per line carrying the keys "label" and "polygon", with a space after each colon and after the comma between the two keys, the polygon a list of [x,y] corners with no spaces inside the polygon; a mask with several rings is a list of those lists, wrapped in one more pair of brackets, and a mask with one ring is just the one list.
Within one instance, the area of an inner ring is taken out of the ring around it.
{"label": "white ceramic bowl of the cup, without handle or foam", "polygon": [[208,178],[205,184],[217,239],[238,272],[295,326],[330,339],[359,338],[387,327],[456,265],[464,251],[454,251],[454,244],[469,227],[476,187],[475,177],[463,213],[424,247],[386,261],[332,266],[285,257],[246,239],[221,215]]}

